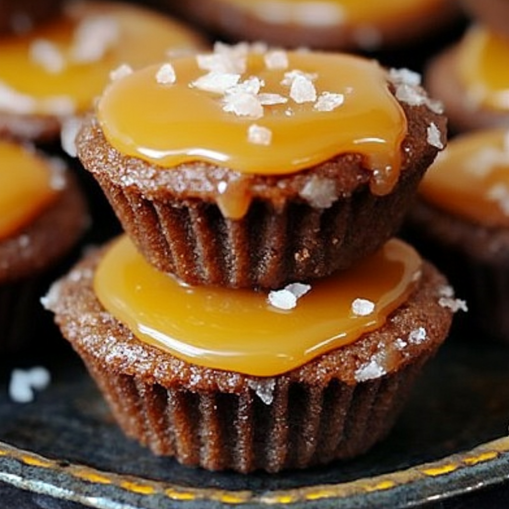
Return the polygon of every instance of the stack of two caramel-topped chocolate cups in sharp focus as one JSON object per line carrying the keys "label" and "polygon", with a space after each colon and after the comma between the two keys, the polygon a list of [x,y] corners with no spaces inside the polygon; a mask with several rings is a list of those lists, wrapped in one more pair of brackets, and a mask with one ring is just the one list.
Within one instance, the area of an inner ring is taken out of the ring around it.
{"label": "stack of two caramel-topped chocolate cups in sharp focus", "polygon": [[[127,236],[46,304],[127,435],[246,473],[351,458],[389,432],[457,304],[391,240],[445,143],[417,81],[219,44],[105,91],[77,148]],[[391,297],[368,298],[389,273]]]}

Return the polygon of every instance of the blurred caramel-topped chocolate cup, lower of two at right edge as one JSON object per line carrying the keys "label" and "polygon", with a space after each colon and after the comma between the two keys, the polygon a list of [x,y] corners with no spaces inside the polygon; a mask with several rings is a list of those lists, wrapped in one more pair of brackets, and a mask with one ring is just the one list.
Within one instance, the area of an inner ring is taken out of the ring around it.
{"label": "blurred caramel-topped chocolate cup, lower of two at right edge", "polygon": [[418,246],[465,297],[464,324],[509,341],[509,129],[456,137],[430,168],[408,215]]}

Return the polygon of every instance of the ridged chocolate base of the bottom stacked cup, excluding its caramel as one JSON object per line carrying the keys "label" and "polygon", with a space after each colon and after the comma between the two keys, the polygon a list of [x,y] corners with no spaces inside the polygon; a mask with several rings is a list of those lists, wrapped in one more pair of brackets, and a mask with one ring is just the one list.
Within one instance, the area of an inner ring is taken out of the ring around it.
{"label": "ridged chocolate base of the bottom stacked cup, excluding its caramel", "polygon": [[135,337],[94,289],[105,252],[90,253],[55,283],[45,305],[124,432],[156,454],[209,470],[278,472],[367,451],[389,432],[455,306],[445,278],[424,262],[382,326],[288,372],[253,376],[189,363]]}

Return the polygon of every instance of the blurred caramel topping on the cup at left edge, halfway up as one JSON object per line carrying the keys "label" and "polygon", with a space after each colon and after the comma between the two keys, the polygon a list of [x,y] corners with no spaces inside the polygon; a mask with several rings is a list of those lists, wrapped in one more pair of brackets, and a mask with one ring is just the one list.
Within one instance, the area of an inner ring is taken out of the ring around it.
{"label": "blurred caramel topping on the cup at left edge, halfway up", "polygon": [[30,223],[56,193],[46,160],[20,145],[0,141],[0,240]]}

